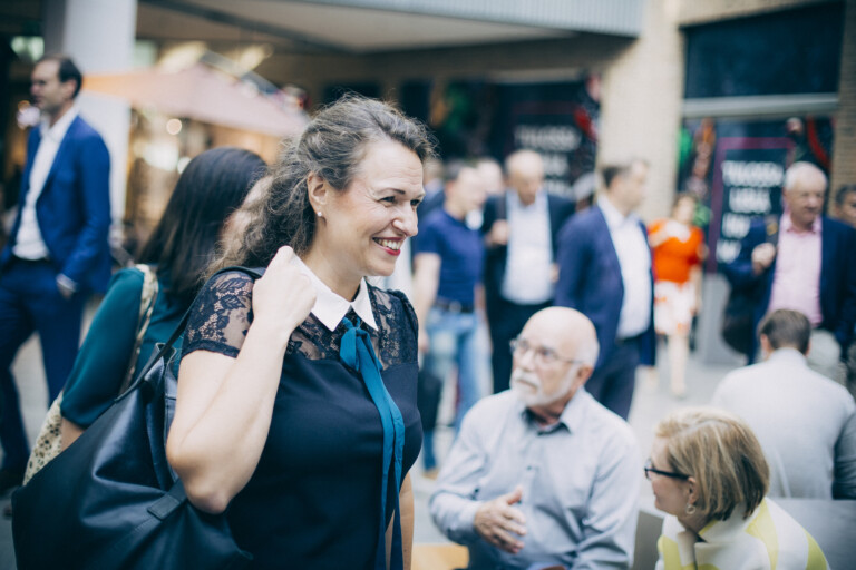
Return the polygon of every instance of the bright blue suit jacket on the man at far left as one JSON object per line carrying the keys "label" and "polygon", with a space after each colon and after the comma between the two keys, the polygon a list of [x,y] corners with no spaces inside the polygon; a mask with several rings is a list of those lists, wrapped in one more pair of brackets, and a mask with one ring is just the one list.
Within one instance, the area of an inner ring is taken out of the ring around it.
{"label": "bright blue suit jacket on the man at far left", "polygon": [[[33,128],[27,142],[18,217],[0,254],[0,271],[12,257],[21,209],[30,190],[30,170],[41,141]],[[82,118],[69,125],[36,202],[36,218],[57,272],[80,289],[104,292],[110,279],[110,156],[101,136]]]}

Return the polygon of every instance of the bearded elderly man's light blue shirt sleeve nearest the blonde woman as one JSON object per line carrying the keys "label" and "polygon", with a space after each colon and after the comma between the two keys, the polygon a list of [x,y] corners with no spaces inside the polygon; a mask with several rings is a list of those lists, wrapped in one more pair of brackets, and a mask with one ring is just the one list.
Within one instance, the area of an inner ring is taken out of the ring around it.
{"label": "bearded elderly man's light blue shirt sleeve nearest the blonde woman", "polygon": [[624,569],[633,560],[642,463],[635,444],[601,450],[601,466],[582,519],[583,538],[572,570]]}

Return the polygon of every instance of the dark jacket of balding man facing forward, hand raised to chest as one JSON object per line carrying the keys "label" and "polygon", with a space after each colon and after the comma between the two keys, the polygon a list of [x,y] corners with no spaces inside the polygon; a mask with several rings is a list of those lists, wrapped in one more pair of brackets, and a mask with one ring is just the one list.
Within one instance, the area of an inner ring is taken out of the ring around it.
{"label": "dark jacket of balding man facing forward, hand raised to chest", "polygon": [[[485,217],[481,223],[481,233],[487,234],[497,219],[507,219],[508,209],[506,205],[506,195],[492,196],[485,204]],[[558,230],[571,215],[574,213],[574,203],[547,194],[547,212],[549,214],[549,238],[553,244],[553,259],[556,258]],[[485,253],[485,302],[488,312],[502,297],[503,279],[505,278],[505,266],[508,259],[508,247],[498,245],[488,247]]]}

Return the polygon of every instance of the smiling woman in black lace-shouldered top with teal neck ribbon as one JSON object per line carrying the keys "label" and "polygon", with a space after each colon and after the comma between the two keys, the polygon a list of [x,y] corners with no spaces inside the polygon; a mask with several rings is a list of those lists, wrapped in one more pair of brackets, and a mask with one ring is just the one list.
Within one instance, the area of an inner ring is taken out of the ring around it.
{"label": "smiling woman in black lace-shouldered top with teal neck ribbon", "polygon": [[[367,284],[416,235],[424,127],[347,98],[310,122],[242,212],[196,299],[167,455],[191,501],[227,510],[253,568],[409,568],[421,444],[417,323]],[[288,562],[284,562],[288,561]]]}

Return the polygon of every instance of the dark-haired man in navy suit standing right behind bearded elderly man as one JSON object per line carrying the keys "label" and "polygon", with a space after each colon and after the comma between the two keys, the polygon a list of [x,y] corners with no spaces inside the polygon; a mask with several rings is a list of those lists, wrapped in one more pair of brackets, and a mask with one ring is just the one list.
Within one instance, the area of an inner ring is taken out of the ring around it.
{"label": "dark-haired man in navy suit standing right behind bearded elderly man", "polygon": [[645,226],[633,213],[644,198],[648,164],[605,166],[601,176],[601,199],[560,233],[556,305],[594,323],[601,354],[586,390],[626,420],[636,366],[654,363],[651,250]]}

